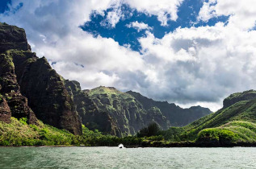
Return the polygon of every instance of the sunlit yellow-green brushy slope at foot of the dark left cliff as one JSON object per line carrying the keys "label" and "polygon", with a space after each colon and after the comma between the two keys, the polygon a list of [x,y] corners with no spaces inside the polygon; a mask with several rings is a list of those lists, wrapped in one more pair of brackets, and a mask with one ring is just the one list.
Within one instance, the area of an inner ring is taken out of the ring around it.
{"label": "sunlit yellow-green brushy slope at foot of the dark left cliff", "polygon": [[66,130],[38,122],[38,126],[27,125],[25,119],[19,121],[11,117],[9,124],[0,122],[0,145],[2,146],[52,146],[75,144],[75,137]]}

